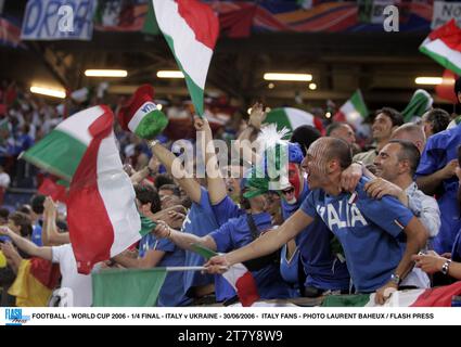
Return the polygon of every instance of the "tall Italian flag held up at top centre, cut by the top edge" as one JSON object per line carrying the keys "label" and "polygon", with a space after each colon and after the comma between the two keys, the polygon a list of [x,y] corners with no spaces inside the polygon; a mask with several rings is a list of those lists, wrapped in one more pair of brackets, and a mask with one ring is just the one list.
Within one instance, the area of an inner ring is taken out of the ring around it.
{"label": "tall Italian flag held up at top centre, cut by the top edge", "polygon": [[195,112],[203,115],[206,75],[219,35],[218,17],[197,0],[153,0],[155,17],[184,74]]}

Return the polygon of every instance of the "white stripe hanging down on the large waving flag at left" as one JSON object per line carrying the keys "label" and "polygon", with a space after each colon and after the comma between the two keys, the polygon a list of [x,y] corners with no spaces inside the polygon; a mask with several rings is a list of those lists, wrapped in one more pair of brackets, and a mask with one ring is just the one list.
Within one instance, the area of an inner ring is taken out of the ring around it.
{"label": "white stripe hanging down on the large waving flag at left", "polygon": [[135,190],[123,170],[114,132],[102,140],[98,152],[98,190],[114,230],[111,257],[137,242],[141,235],[141,219],[135,203]]}

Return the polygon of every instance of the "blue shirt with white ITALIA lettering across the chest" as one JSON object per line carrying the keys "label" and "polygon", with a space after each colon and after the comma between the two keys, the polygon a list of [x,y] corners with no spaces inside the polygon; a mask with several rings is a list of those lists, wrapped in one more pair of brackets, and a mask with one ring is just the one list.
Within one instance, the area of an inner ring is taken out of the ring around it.
{"label": "blue shirt with white ITALIA lettering across the chest", "polygon": [[350,193],[328,195],[311,191],[302,205],[303,211],[320,216],[343,245],[347,268],[357,292],[373,292],[390,279],[404,255],[397,240],[413,218],[412,213],[392,196],[370,198],[363,190],[369,180],[362,177],[357,198]]}

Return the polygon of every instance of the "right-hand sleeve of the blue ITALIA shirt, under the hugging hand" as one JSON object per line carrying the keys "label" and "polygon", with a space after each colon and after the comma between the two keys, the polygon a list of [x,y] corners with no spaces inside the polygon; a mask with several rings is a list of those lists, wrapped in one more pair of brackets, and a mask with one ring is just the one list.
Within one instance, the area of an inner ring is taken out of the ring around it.
{"label": "right-hand sleeve of the blue ITALIA shirt, under the hugging hand", "polygon": [[359,198],[356,205],[360,213],[394,237],[413,218],[413,214],[394,196],[376,200],[369,197],[362,188],[358,192]]}

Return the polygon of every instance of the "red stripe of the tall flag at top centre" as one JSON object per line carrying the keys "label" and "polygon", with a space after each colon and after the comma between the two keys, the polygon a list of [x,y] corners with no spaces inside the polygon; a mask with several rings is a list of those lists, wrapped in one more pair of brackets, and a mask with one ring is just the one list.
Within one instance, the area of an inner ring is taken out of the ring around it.
{"label": "red stripe of the tall flag at top centre", "polygon": [[212,8],[197,0],[176,0],[179,15],[195,33],[195,39],[214,50],[219,35],[219,21]]}

